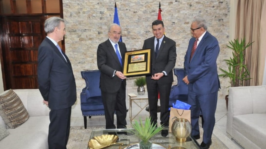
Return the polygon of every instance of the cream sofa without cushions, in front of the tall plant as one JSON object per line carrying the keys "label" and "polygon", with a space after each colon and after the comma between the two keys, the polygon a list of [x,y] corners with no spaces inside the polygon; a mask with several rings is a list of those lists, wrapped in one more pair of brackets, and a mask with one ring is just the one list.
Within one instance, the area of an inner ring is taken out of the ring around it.
{"label": "cream sofa without cushions, in front of the tall plant", "polygon": [[266,148],[266,86],[229,88],[226,132],[246,149]]}

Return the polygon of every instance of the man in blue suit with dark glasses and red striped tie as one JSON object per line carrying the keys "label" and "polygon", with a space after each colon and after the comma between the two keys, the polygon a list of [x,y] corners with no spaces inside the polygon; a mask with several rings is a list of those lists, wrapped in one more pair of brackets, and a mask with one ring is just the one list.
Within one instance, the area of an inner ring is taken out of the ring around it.
{"label": "man in blue suit with dark glasses and red striped tie", "polygon": [[195,139],[200,138],[198,119],[201,110],[204,119],[201,147],[209,148],[220,88],[216,63],[220,48],[217,39],[207,32],[205,20],[195,19],[190,29],[193,37],[189,40],[185,55],[183,81],[188,84],[188,104],[191,105],[191,135]]}

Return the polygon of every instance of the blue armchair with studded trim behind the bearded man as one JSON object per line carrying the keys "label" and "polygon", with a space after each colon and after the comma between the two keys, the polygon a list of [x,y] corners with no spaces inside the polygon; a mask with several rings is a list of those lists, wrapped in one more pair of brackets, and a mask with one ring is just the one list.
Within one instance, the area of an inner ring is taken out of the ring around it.
{"label": "blue armchair with studded trim behind the bearded man", "polygon": [[84,117],[84,127],[87,128],[87,116],[104,115],[102,95],[100,89],[100,71],[81,71],[86,87],[80,93],[80,106]]}

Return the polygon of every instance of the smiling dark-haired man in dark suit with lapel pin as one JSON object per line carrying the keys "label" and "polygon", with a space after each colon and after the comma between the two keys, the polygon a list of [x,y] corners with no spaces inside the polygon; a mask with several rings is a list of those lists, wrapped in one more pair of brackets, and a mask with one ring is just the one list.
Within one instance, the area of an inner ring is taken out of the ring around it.
{"label": "smiling dark-haired man in dark suit with lapel pin", "polygon": [[[176,42],[164,35],[164,23],[161,20],[152,22],[153,37],[144,41],[142,49],[152,49],[151,75],[146,76],[149,113],[151,121],[157,125],[158,92],[160,93],[161,125],[169,126],[169,95],[173,82],[173,68],[176,64]],[[168,130],[162,130],[162,136]]]}

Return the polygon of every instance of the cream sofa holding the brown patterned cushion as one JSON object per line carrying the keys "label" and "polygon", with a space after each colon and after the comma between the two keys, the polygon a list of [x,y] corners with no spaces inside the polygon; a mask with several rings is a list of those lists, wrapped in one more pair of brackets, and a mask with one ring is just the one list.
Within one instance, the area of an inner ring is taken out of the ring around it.
{"label": "cream sofa holding the brown patterned cushion", "polygon": [[30,117],[21,126],[10,129],[0,116],[0,125],[10,134],[0,140],[3,149],[48,149],[49,108],[44,105],[39,89],[16,89]]}

